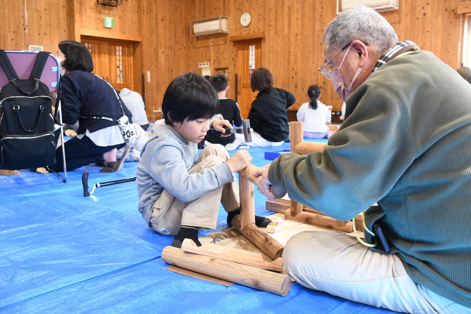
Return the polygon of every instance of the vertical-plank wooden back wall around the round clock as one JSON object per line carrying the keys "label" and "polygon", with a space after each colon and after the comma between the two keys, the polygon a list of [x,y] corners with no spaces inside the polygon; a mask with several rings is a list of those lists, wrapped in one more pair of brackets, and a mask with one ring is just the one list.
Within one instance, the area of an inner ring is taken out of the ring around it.
{"label": "vertical-plank wooden back wall around the round clock", "polygon": [[[460,15],[457,4],[464,0],[400,0],[399,10],[382,12],[396,29],[399,40],[415,41],[422,50],[430,50],[453,68],[459,65]],[[252,17],[243,27],[239,18],[244,12]],[[341,100],[332,82],[319,73],[324,64],[322,34],[336,16],[335,1],[330,0],[265,0],[254,6],[250,0],[195,0],[194,18],[225,15],[229,17],[229,36],[265,33],[262,41],[262,66],[274,76],[275,86],[292,91],[297,109],[308,101],[310,84],[321,86],[321,101],[340,110]],[[229,84],[234,85],[235,47],[228,35],[191,39],[189,66],[198,71],[197,63],[209,61],[211,68],[229,67]],[[213,71],[214,72],[214,71]],[[234,89],[228,97],[234,98]]]}

